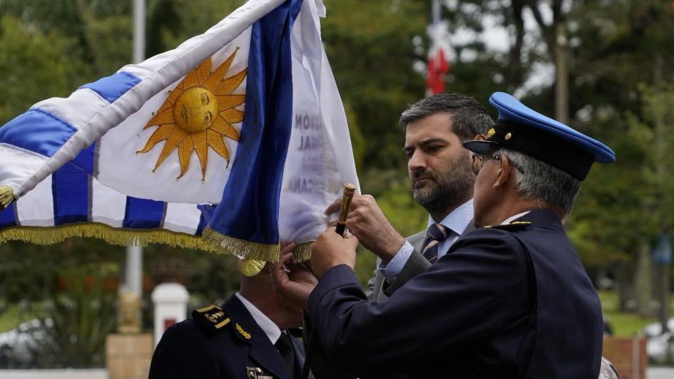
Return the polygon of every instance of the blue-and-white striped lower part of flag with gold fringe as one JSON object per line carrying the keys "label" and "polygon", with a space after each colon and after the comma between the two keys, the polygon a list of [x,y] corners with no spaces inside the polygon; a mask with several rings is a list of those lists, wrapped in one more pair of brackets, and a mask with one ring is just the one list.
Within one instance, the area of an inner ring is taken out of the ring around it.
{"label": "blue-and-white striped lower part of flag with gold fringe", "polygon": [[0,212],[0,243],[53,244],[76,236],[211,249],[200,238],[208,214],[200,209],[208,211],[205,205],[128,197],[66,163]]}

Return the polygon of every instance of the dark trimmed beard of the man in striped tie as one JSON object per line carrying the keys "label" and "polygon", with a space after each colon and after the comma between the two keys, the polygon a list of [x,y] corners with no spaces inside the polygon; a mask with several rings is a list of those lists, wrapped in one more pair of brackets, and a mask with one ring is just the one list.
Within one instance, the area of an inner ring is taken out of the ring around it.
{"label": "dark trimmed beard of the man in striped tie", "polygon": [[[434,217],[466,202],[471,197],[475,183],[475,174],[468,159],[468,152],[464,150],[458,160],[446,162],[446,165],[439,167],[438,172],[414,172],[414,201]],[[418,177],[428,177],[429,180],[423,187],[415,188],[414,179]]]}

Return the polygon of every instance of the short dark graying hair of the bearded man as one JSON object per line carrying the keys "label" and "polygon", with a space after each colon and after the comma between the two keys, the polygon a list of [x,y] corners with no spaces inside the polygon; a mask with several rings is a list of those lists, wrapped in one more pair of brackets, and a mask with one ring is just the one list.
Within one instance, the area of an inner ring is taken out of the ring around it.
{"label": "short dark graying hair of the bearded man", "polygon": [[400,115],[400,123],[406,125],[436,113],[447,113],[452,120],[452,131],[461,141],[472,140],[485,134],[492,125],[486,109],[471,96],[456,92],[437,93],[417,101]]}

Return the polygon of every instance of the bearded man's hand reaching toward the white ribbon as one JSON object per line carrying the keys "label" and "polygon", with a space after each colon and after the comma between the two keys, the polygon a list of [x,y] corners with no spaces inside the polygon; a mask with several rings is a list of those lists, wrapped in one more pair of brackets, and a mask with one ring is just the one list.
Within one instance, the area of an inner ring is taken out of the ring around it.
{"label": "bearded man's hand reaching toward the white ribbon", "polygon": [[[325,209],[325,214],[337,212],[341,206],[340,198]],[[405,243],[405,239],[391,226],[374,197],[369,194],[354,194],[347,228],[384,263],[389,263]]]}

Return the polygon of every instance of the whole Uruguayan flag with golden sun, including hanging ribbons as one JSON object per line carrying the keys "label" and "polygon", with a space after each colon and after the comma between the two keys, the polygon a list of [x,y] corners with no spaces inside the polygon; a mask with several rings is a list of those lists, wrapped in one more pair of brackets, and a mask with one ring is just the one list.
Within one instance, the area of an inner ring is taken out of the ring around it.
{"label": "whole Uruguayan flag with golden sun, including hanging ribbons", "polygon": [[[36,226],[203,232],[205,246],[262,261],[276,261],[280,239],[290,239],[298,259],[308,258],[326,225],[323,209],[343,183],[357,185],[320,39],[324,11],[318,0],[248,1],[175,50],[11,120],[0,128],[0,202],[3,192],[4,204],[21,199],[0,212],[0,228],[16,234],[40,219]],[[60,187],[62,170],[80,170],[82,179]],[[96,205],[106,196],[96,188],[119,201]],[[39,202],[53,205],[33,217]],[[195,204],[213,206],[197,215]],[[106,222],[100,207],[116,217]],[[61,217],[70,211],[76,217]],[[147,214],[155,217],[136,219]]]}

